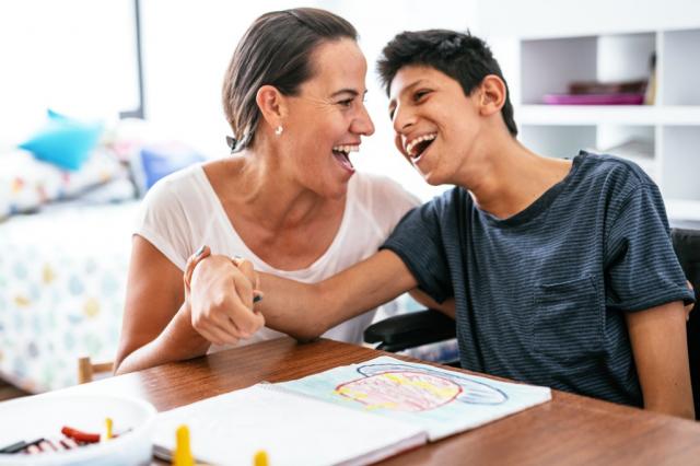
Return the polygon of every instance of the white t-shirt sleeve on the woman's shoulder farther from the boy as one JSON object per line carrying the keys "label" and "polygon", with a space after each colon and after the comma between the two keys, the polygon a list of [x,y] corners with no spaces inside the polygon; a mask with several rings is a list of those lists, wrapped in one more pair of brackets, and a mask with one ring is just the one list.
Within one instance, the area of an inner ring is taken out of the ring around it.
{"label": "white t-shirt sleeve on the woman's shoulder farther from the boy", "polygon": [[186,252],[191,248],[187,218],[167,179],[156,183],[143,198],[133,234],[143,237],[177,268],[185,270]]}

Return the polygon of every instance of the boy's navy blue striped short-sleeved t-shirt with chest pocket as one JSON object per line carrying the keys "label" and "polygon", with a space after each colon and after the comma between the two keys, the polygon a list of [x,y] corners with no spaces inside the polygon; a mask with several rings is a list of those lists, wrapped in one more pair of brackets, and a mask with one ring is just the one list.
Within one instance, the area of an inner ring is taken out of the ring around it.
{"label": "boy's navy blue striped short-sleeved t-shirt with chest pocket", "polygon": [[656,185],[583,151],[511,218],[456,187],[407,213],[382,247],[434,300],[455,298],[463,368],[628,405],[642,394],[623,313],[693,300]]}

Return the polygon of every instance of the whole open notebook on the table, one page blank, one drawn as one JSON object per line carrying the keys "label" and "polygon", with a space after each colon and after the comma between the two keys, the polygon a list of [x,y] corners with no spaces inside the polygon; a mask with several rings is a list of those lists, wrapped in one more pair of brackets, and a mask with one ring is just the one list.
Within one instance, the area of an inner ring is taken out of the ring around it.
{"label": "whole open notebook on the table, one page blank, one drawn", "polygon": [[154,444],[190,430],[197,461],[369,464],[551,399],[546,387],[498,382],[381,357],[296,381],[258,384],[159,415]]}

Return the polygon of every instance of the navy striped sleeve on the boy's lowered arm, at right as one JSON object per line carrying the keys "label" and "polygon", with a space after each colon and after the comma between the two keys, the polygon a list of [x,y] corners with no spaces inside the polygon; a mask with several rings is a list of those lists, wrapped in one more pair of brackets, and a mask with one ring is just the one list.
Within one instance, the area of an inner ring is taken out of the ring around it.
{"label": "navy striped sleeve on the boy's lowered arm, at right", "polygon": [[695,301],[674,253],[658,188],[635,187],[615,215],[606,242],[607,305],[621,311]]}

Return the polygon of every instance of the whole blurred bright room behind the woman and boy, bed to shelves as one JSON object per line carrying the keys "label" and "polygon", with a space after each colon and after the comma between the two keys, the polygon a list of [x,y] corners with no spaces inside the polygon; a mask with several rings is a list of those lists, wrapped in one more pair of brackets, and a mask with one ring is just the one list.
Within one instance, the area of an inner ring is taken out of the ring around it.
{"label": "whole blurred bright room behind the woman and boy, bed to shelves", "polygon": [[[250,22],[295,1],[8,0],[0,3],[0,378],[74,383],[110,359],[130,231],[160,177],[226,156],[220,103]],[[376,133],[353,156],[424,200],[398,155],[374,62],[406,30],[470,30],[509,81],[521,140],[642,166],[674,224],[700,222],[700,3],[690,0],[316,0],[360,32]]]}

